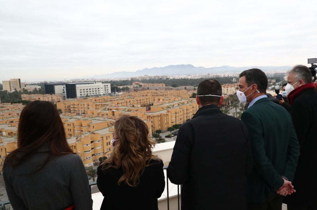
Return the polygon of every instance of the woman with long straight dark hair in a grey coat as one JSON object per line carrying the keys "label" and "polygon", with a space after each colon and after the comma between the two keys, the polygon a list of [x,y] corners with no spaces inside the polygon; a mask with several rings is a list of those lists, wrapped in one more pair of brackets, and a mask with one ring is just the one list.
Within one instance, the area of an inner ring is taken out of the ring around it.
{"label": "woman with long straight dark hair in a grey coat", "polygon": [[47,101],[23,108],[17,149],[4,159],[3,177],[14,210],[92,208],[82,160],[68,146],[61,117]]}

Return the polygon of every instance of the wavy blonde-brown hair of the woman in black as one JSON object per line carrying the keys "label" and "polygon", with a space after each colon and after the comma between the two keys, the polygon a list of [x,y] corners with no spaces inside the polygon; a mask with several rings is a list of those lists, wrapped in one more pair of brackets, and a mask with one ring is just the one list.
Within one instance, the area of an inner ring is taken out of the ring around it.
{"label": "wavy blonde-brown hair of the woman in black", "polygon": [[149,160],[160,160],[158,156],[152,155],[155,141],[149,137],[146,123],[134,116],[120,117],[114,124],[114,133],[118,141],[115,141],[111,156],[101,164],[101,168],[121,168],[123,175],[118,184],[125,182],[135,187],[145,167],[151,165]]}

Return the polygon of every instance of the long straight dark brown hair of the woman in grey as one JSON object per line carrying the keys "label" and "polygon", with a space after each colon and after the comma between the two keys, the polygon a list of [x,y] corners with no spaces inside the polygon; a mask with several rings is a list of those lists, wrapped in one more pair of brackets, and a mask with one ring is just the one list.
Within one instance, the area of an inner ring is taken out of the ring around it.
{"label": "long straight dark brown hair of the woman in grey", "polygon": [[[47,101],[33,101],[26,105],[19,119],[18,148],[5,158],[5,163],[16,166],[28,159],[43,144],[49,145],[49,156],[73,153],[66,141],[61,117],[55,106]],[[19,155],[17,155],[19,154]]]}

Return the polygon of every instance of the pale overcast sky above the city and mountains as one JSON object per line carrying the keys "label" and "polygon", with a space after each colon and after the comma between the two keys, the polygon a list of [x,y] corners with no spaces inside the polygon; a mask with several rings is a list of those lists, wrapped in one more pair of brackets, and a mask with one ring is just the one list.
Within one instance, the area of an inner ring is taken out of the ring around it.
{"label": "pale overcast sky above the city and mountains", "polygon": [[317,57],[316,2],[1,1],[0,80],[307,64]]}

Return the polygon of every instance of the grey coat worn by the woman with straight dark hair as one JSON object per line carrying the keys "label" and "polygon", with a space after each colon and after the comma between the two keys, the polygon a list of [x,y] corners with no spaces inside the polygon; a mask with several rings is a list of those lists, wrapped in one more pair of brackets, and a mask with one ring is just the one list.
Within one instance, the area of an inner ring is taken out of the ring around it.
{"label": "grey coat worn by the woman with straight dark hair", "polygon": [[12,167],[4,161],[3,178],[11,206],[21,209],[91,210],[92,199],[84,165],[77,154],[52,158],[38,170],[49,155],[41,147],[33,156]]}

